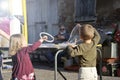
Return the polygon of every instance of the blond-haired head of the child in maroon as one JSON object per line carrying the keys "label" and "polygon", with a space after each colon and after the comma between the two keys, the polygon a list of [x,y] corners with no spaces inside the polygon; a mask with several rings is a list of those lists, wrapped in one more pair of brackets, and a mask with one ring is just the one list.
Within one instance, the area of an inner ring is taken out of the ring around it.
{"label": "blond-haired head of the child in maroon", "polygon": [[26,44],[25,38],[22,34],[13,34],[10,37],[9,53],[15,55]]}

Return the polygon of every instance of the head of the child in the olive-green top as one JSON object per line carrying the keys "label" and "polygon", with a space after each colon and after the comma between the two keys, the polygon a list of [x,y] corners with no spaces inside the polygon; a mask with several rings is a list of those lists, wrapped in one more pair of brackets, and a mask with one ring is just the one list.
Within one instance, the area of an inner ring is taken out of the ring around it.
{"label": "head of the child in the olive-green top", "polygon": [[90,40],[94,37],[94,28],[90,24],[84,24],[81,27],[81,36],[84,41]]}

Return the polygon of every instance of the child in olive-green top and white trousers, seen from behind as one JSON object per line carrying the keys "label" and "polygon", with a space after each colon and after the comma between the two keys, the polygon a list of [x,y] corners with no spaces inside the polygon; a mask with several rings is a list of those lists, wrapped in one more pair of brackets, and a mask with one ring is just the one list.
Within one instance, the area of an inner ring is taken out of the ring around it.
{"label": "child in olive-green top and white trousers, seen from behind", "polygon": [[80,38],[83,43],[76,46],[68,45],[66,48],[70,56],[79,57],[78,80],[97,80],[96,46],[99,43],[100,35],[92,25],[85,24],[81,27]]}

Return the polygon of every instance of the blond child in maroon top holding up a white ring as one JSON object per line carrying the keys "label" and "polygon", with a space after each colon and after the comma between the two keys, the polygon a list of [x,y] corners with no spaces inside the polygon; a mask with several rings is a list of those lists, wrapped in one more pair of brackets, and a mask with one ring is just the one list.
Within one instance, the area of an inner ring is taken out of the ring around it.
{"label": "blond child in maroon top holding up a white ring", "polygon": [[43,36],[31,46],[27,46],[22,34],[14,34],[10,37],[9,53],[13,62],[11,80],[35,80],[29,54],[36,50],[44,40],[47,40],[47,36]]}

